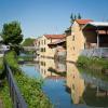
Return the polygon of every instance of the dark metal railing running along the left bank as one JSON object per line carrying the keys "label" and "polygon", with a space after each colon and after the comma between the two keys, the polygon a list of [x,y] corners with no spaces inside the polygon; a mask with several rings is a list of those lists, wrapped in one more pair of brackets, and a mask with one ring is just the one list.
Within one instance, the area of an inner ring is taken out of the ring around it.
{"label": "dark metal railing running along the left bank", "polygon": [[13,103],[13,108],[28,108],[13,78],[12,70],[10,69],[9,65],[5,62],[4,62],[4,66],[5,66],[6,79],[10,87],[10,96]]}

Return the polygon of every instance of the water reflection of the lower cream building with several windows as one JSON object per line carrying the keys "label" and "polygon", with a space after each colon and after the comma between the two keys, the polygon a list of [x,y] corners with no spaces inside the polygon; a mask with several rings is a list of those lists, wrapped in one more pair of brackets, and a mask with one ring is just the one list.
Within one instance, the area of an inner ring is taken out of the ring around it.
{"label": "water reflection of the lower cream building with several windows", "polygon": [[51,58],[40,58],[39,71],[43,79],[59,79],[64,78],[59,76],[59,72],[66,72],[66,65],[59,62],[54,62]]}

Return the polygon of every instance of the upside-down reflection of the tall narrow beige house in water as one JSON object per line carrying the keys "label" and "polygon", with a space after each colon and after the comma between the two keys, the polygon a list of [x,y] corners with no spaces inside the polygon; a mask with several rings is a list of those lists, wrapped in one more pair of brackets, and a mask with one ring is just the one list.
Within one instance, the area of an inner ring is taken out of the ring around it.
{"label": "upside-down reflection of the tall narrow beige house in water", "polygon": [[71,63],[67,63],[66,86],[70,90],[73,104],[80,104],[85,90],[84,80],[81,78],[78,68]]}

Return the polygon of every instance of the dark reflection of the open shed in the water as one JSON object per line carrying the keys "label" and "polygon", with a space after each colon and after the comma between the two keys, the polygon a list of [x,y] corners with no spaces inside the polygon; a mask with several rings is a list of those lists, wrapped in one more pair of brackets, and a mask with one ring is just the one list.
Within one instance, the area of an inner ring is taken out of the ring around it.
{"label": "dark reflection of the open shed in the water", "polygon": [[108,91],[104,91],[93,84],[85,84],[82,98],[87,106],[108,107]]}

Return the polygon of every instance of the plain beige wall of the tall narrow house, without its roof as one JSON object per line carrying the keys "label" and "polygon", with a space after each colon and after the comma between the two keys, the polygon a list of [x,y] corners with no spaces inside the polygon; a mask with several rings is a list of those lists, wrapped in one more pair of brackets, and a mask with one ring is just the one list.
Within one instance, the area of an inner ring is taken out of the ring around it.
{"label": "plain beige wall of the tall narrow house, without its roof", "polygon": [[84,49],[85,38],[81,27],[77,22],[71,27],[71,36],[66,38],[67,41],[67,60],[77,62],[81,50]]}

